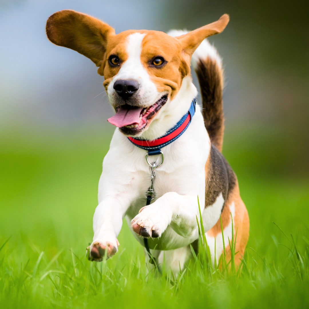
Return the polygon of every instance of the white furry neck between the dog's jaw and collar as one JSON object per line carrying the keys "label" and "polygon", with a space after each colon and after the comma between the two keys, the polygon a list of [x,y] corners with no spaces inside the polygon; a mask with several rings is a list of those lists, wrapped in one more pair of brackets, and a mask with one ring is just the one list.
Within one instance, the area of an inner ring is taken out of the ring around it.
{"label": "white furry neck between the dog's jaw and collar", "polygon": [[149,128],[139,138],[154,140],[163,136],[188,112],[196,95],[197,89],[192,82],[192,77],[184,77],[176,97],[172,101],[167,101]]}

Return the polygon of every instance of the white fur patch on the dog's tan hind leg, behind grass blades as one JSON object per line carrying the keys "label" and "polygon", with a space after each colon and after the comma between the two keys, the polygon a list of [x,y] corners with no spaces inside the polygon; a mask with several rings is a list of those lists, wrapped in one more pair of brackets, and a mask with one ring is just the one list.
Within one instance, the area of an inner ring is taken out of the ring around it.
{"label": "white fur patch on the dog's tan hind leg, behind grass blades", "polygon": [[[229,207],[230,207],[230,213],[232,214],[232,218],[233,218],[233,222],[234,222],[234,218],[235,218],[235,204],[234,204],[234,202],[232,202]],[[234,222],[234,225],[235,225],[235,222]],[[235,235],[235,233],[236,233],[236,231],[234,229],[234,235]],[[213,263],[214,263],[214,257],[215,257],[214,243],[215,243],[215,239],[216,239],[216,260],[218,262],[221,254],[223,252],[222,233],[219,233],[216,237],[211,237],[211,236],[207,235],[207,233],[205,233],[205,236],[206,236],[207,244],[208,244],[209,249],[210,249],[211,260],[212,260]],[[225,229],[223,230],[223,236],[224,236],[225,247],[228,247],[229,246],[229,239],[230,239],[230,241],[232,239],[232,220],[231,219],[230,219],[230,223],[228,224],[228,226],[226,226]]]}

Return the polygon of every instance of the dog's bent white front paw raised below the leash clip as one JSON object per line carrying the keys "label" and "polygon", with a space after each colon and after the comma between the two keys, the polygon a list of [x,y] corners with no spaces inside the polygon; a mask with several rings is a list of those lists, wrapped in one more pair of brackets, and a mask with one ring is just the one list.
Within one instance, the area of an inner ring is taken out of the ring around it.
{"label": "dog's bent white front paw raised below the leash clip", "polygon": [[139,214],[132,219],[131,224],[133,231],[143,237],[160,237],[167,228],[162,214],[159,214],[153,205],[141,208]]}

